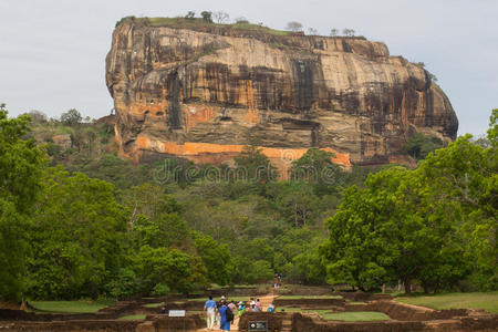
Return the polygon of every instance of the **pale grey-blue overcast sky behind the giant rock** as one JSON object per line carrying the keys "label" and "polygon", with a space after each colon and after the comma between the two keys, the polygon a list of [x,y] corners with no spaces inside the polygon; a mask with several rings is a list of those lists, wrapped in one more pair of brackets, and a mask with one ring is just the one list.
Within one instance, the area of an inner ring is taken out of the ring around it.
{"label": "pale grey-blue overcast sky behind the giant rock", "polygon": [[116,21],[204,10],[273,29],[298,21],[324,35],[350,28],[383,41],[437,76],[459,135],[485,134],[498,108],[498,0],[0,0],[0,103],[13,116],[107,115],[105,55]]}

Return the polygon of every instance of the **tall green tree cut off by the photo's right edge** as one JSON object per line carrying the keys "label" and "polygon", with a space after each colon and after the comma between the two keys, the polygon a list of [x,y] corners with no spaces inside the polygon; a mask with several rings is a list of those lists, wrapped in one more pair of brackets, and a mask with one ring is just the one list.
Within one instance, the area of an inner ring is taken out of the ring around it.
{"label": "tall green tree cut off by the photo's right edge", "polygon": [[[494,126],[491,116],[491,133]],[[492,135],[488,137],[492,139]],[[465,257],[471,262],[471,282],[492,290],[498,289],[496,146],[484,148],[470,138],[458,137],[429,154],[419,172],[429,184],[433,214],[459,230],[455,237],[461,239]]]}

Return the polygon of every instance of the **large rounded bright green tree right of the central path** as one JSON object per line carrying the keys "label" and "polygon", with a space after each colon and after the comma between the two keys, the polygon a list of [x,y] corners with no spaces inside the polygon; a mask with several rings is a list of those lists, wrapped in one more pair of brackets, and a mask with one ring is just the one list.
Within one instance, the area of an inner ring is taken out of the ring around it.
{"label": "large rounded bright green tree right of the central path", "polygon": [[468,267],[458,227],[443,211],[434,212],[429,193],[419,169],[402,167],[370,176],[365,189],[347,188],[326,221],[330,238],[321,248],[330,262],[329,282],[374,290],[402,280],[409,293],[413,280],[430,282],[427,271],[438,273],[439,283],[461,280]]}

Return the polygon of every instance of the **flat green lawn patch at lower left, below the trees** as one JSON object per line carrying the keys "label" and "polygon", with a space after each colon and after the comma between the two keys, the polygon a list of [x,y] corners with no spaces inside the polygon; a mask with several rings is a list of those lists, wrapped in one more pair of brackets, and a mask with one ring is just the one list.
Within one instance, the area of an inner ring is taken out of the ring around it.
{"label": "flat green lawn patch at lower left, below the trees", "polygon": [[38,311],[58,313],[93,313],[114,304],[115,301],[31,301]]}

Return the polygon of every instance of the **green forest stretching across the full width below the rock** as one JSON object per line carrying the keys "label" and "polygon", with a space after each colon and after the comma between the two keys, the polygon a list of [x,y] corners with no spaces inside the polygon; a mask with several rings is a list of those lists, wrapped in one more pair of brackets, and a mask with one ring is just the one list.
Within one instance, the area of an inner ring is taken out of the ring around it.
{"label": "green forest stretching across the full width below the rock", "polygon": [[487,137],[414,135],[416,167],[342,169],[311,148],[286,180],[253,146],[232,166],[135,165],[113,136],[75,110],[9,117],[2,104],[0,298],[187,293],[274,272],[363,291],[498,289],[498,110]]}

